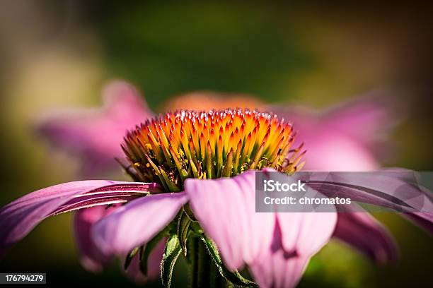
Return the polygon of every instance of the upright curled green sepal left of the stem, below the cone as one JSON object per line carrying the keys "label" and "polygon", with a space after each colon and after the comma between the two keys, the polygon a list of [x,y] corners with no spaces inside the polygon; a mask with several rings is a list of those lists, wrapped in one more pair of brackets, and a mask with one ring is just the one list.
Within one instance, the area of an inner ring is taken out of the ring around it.
{"label": "upright curled green sepal left of the stem, below the cone", "polygon": [[170,235],[161,261],[161,281],[163,287],[168,288],[171,286],[171,277],[173,275],[174,265],[176,260],[178,260],[181,251],[182,248],[180,248],[178,235]]}

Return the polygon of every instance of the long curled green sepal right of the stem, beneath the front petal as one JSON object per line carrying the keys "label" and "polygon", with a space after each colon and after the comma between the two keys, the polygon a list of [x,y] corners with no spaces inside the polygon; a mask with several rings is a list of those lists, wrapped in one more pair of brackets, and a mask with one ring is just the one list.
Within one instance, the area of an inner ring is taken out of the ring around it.
{"label": "long curled green sepal right of the stem, beneath the front petal", "polygon": [[215,265],[217,265],[219,274],[221,274],[222,277],[224,277],[227,281],[231,282],[231,284],[238,287],[258,287],[258,284],[244,278],[238,271],[232,272],[226,268],[226,266],[221,260],[221,256],[219,256],[218,248],[217,246],[215,246],[212,240],[207,239],[204,236],[200,236],[200,239],[202,239],[202,241],[204,241],[204,244],[206,244],[207,252],[209,252],[209,255],[214,260]]}

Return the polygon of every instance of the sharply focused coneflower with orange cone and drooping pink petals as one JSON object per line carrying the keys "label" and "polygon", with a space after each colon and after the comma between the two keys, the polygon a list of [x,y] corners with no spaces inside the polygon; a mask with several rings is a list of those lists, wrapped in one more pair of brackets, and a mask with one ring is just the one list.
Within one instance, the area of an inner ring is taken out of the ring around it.
{"label": "sharply focused coneflower with orange cone and drooping pink petals", "polygon": [[[304,150],[293,147],[295,135],[289,122],[255,110],[179,111],[145,121],[122,143],[134,182],[76,181],[18,198],[0,210],[0,252],[46,217],[78,210],[75,231],[89,268],[122,256],[125,268],[151,278],[158,260],[166,287],[182,254],[193,287],[293,287],[339,227],[340,238],[366,253],[380,251],[376,260],[393,258],[392,241],[366,214],[354,222],[369,239],[382,233],[374,247],[350,240],[349,217],[337,212],[255,212],[255,171],[301,168]],[[365,185],[375,188],[374,180]],[[403,182],[389,179],[390,186]],[[362,187],[350,189],[381,205]],[[431,227],[431,213],[399,208]],[[253,280],[238,272],[243,268]]]}

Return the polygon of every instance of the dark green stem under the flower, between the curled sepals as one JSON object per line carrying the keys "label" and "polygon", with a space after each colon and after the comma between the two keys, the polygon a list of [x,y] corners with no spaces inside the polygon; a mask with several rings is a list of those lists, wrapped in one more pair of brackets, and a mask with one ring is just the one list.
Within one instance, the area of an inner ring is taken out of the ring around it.
{"label": "dark green stem under the flower, between the curled sepals", "polygon": [[228,287],[228,282],[219,274],[203,241],[198,237],[188,239],[188,260],[190,262],[190,287]]}

